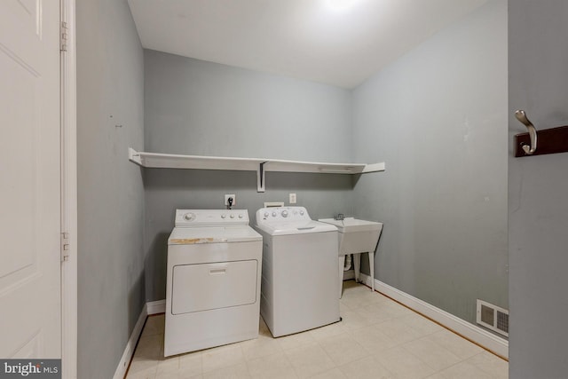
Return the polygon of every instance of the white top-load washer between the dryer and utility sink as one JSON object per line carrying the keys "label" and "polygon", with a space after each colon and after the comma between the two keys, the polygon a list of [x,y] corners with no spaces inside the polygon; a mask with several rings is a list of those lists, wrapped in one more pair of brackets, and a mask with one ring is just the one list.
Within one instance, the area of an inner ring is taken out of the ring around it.
{"label": "white top-load washer between the dryer and utility sink", "polygon": [[337,228],[312,220],[304,207],[262,208],[260,313],[272,336],[286,336],[339,321]]}

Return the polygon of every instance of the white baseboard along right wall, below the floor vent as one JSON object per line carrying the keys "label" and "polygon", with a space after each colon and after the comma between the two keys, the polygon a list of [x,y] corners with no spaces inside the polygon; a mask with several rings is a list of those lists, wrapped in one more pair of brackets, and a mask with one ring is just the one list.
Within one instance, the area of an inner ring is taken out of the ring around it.
{"label": "white baseboard along right wall, below the floor vent", "polygon": [[[359,280],[371,287],[370,276],[361,273]],[[375,279],[375,290],[398,301],[400,304],[406,305],[415,312],[419,312],[429,319],[438,322],[440,325],[454,331],[455,333],[466,337],[485,349],[493,351],[495,354],[505,359],[509,359],[509,341],[506,339],[495,336],[485,329],[479,328],[465,320],[461,320],[451,313],[443,311],[434,305],[428,304],[419,298],[406,294],[406,292],[390,287],[388,284],[383,283],[380,280]]]}

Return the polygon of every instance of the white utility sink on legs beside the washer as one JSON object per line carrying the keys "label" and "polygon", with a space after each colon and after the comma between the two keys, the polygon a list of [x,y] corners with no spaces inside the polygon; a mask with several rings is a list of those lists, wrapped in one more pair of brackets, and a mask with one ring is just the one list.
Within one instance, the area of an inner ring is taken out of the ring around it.
{"label": "white utility sink on legs beside the washer", "polygon": [[343,219],[320,218],[319,221],[335,225],[339,233],[339,297],[343,290],[343,265],[345,256],[353,255],[355,265],[355,280],[359,281],[361,253],[368,253],[369,269],[371,271],[371,289],[375,291],[375,248],[383,230],[383,223],[359,220],[354,217]]}

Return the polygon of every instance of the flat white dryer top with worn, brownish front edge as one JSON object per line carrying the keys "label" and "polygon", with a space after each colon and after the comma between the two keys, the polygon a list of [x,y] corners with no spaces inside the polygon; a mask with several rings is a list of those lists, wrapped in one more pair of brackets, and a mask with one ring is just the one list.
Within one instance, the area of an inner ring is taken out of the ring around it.
{"label": "flat white dryer top with worn, brownish front edge", "polygon": [[168,245],[248,241],[263,241],[263,237],[250,226],[176,227],[170,234]]}

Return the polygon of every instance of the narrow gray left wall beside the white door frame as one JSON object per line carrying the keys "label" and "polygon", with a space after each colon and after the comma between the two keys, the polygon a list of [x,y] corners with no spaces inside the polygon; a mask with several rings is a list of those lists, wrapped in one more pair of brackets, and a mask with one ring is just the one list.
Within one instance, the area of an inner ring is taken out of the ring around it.
{"label": "narrow gray left wall beside the white door frame", "polygon": [[76,6],[78,377],[110,378],[145,303],[144,61],[125,0]]}

